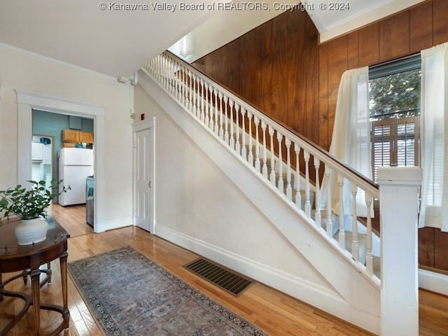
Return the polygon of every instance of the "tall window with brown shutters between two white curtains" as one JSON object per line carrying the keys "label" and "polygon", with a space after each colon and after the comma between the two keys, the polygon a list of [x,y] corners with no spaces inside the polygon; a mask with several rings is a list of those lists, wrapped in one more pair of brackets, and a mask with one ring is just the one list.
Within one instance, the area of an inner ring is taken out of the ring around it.
{"label": "tall window with brown shutters between two white curtains", "polygon": [[372,172],[420,165],[420,55],[369,69]]}

